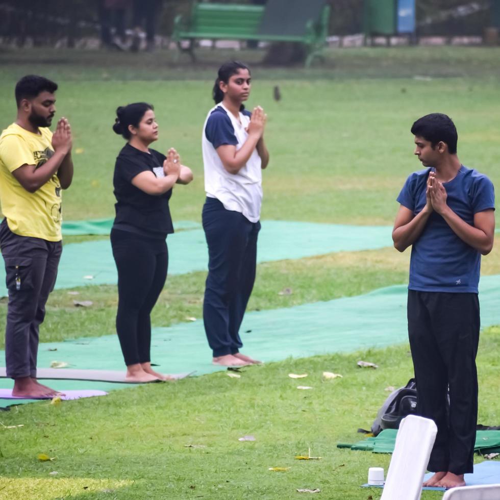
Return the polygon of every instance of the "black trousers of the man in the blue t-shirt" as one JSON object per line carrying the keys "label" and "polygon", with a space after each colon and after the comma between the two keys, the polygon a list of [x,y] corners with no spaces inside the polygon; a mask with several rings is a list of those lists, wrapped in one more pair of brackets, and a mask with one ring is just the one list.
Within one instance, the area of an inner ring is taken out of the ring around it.
{"label": "black trousers of the man in the blue t-shirt", "polygon": [[432,418],[438,428],[427,467],[432,472],[465,474],[473,470],[479,315],[477,293],[408,290],[408,333],[417,383],[417,414]]}

